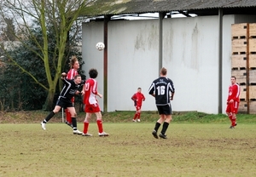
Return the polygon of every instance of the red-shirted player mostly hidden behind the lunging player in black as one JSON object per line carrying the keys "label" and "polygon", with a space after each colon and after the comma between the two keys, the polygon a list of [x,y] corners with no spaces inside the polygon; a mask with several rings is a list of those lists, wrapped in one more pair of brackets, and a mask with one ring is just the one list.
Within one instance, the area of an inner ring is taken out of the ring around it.
{"label": "red-shirted player mostly hidden behind the lunging player in black", "polygon": [[[78,70],[79,70],[79,60],[77,59],[76,56],[72,56],[71,60],[70,60],[70,70],[67,72],[67,79],[73,79],[73,77],[75,77],[76,75],[78,75]],[[74,105],[74,97],[71,100],[73,102]],[[66,112],[66,124],[70,127],[72,126],[72,117],[70,112],[65,109]]]}

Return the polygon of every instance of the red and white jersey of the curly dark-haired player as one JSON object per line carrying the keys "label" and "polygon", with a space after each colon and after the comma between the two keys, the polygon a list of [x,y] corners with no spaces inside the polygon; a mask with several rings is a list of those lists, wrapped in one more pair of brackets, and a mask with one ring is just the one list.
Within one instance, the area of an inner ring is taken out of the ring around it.
{"label": "red and white jersey of the curly dark-haired player", "polygon": [[84,104],[93,105],[97,103],[97,81],[93,78],[89,78],[84,84]]}

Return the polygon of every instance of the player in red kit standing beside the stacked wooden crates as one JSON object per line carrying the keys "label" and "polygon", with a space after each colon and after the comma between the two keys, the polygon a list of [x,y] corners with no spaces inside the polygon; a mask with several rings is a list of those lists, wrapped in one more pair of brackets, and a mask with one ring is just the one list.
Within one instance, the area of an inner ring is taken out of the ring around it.
{"label": "player in red kit standing beside the stacked wooden crates", "polygon": [[231,77],[231,85],[229,87],[229,96],[227,99],[226,113],[230,117],[231,126],[230,128],[235,128],[236,126],[236,114],[239,106],[239,95],[240,87],[236,83],[236,77]]}

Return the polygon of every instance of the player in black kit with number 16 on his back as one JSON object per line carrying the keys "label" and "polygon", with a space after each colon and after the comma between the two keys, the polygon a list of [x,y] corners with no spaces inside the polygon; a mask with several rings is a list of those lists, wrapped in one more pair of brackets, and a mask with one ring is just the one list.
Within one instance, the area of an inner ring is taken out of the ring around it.
{"label": "player in black kit with number 16 on his back", "polygon": [[171,100],[173,100],[175,88],[172,80],[166,77],[166,75],[166,68],[161,68],[160,77],[155,79],[148,89],[148,94],[151,94],[155,98],[155,105],[160,114],[160,118],[155,123],[154,131],[152,132],[156,139],[158,139],[157,131],[160,128],[161,123],[164,124],[159,136],[160,138],[166,139],[166,130],[169,123],[172,121]]}

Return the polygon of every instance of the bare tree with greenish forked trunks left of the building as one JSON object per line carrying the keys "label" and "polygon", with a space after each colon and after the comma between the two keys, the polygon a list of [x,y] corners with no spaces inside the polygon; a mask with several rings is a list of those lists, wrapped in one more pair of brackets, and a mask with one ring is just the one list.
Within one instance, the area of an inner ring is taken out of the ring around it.
{"label": "bare tree with greenish forked trunks left of the building", "polygon": [[[42,31],[43,43],[39,43],[37,37],[33,37],[36,47],[40,49],[40,53],[28,46],[27,49],[37,54],[38,58],[44,61],[48,86],[39,83],[36,77],[16,63],[15,59],[11,58],[8,50],[3,50],[6,52],[5,56],[13,64],[48,91],[48,97],[45,102],[46,108],[52,107],[56,85],[63,69],[63,63],[65,63],[63,60],[67,60],[64,57],[64,52],[67,47],[68,35],[70,35],[69,31],[78,22],[78,17],[83,10],[94,2],[95,0],[0,0],[0,18],[2,20],[13,20],[16,31],[12,31],[12,35],[15,35],[16,40],[20,41],[22,45],[26,46],[24,39],[33,35],[33,21],[38,23],[37,27],[40,27]],[[53,30],[55,33],[56,48],[55,54],[51,54],[52,58],[49,58],[49,30]],[[77,35],[77,32],[73,32],[71,38]],[[54,60],[54,62],[49,62],[49,60]],[[55,71],[50,71],[52,67],[49,66],[49,63],[54,63]],[[52,76],[52,73],[54,73],[54,76]]]}

